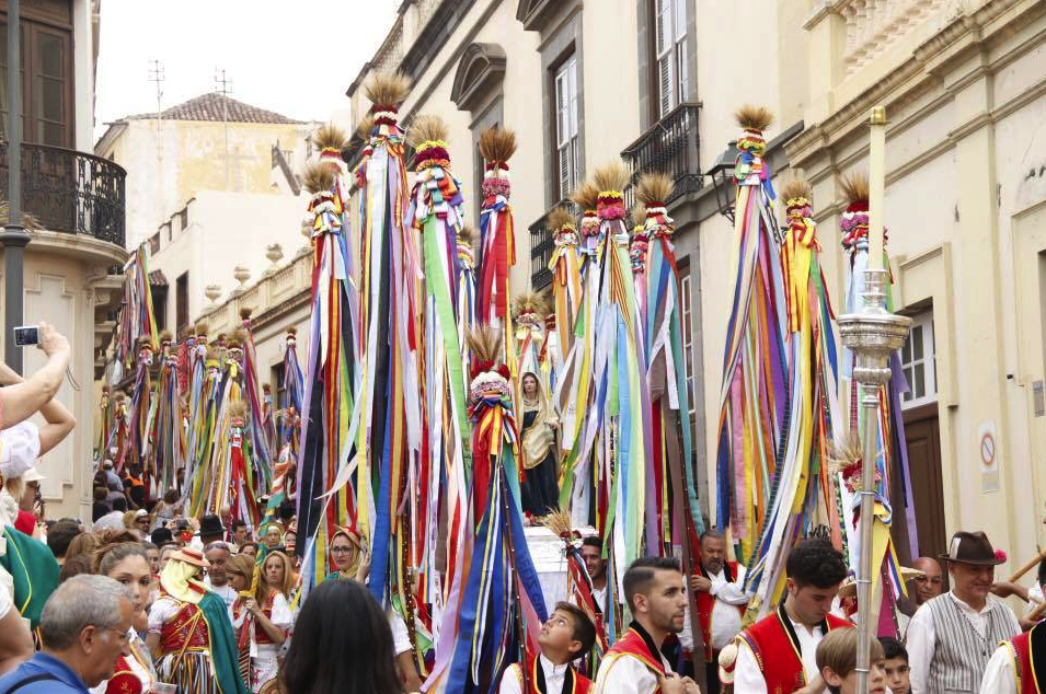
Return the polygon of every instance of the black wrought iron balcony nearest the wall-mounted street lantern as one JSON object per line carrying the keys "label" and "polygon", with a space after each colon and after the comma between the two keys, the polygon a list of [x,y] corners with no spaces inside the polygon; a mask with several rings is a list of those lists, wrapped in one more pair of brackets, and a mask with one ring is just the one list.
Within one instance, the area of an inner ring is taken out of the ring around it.
{"label": "black wrought iron balcony nearest the wall-mounted street lantern", "polygon": [[698,104],[676,106],[621,152],[632,169],[632,181],[624,190],[624,203],[630,209],[635,204],[635,184],[646,172],[663,171],[675,180],[676,189],[666,205],[701,187],[698,108]]}

